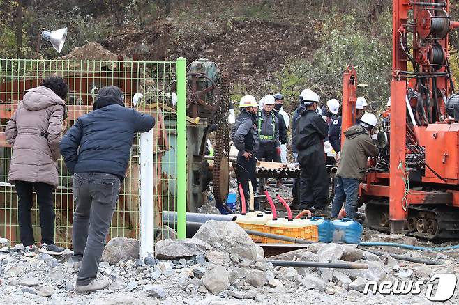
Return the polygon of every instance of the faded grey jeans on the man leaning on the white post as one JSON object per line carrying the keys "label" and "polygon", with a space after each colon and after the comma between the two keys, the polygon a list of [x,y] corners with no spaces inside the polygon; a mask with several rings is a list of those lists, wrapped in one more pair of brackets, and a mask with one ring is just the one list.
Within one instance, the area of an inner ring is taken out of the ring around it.
{"label": "faded grey jeans on the man leaning on the white post", "polygon": [[110,173],[73,175],[73,260],[82,262],[77,286],[96,279],[119,189],[119,178]]}

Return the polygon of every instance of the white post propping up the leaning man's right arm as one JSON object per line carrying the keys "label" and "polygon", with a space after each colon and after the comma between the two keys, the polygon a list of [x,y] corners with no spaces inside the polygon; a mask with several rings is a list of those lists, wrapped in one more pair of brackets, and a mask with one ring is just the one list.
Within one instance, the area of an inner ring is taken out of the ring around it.
{"label": "white post propping up the leaning man's right arm", "polygon": [[140,134],[139,247],[140,260],[154,257],[155,210],[153,198],[153,129]]}

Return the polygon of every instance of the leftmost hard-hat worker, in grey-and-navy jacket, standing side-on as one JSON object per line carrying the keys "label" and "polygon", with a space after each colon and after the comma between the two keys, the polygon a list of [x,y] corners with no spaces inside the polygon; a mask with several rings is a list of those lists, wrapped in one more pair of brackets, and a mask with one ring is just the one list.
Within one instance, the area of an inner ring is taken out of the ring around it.
{"label": "leftmost hard-hat worker, in grey-and-navy jacket, standing side-on", "polygon": [[233,163],[238,183],[241,183],[244,196],[250,197],[248,182],[252,182],[253,189],[257,189],[255,169],[257,167],[257,151],[259,138],[257,130],[258,104],[255,97],[245,95],[239,102],[241,113],[236,119],[231,138],[238,150],[236,162]]}

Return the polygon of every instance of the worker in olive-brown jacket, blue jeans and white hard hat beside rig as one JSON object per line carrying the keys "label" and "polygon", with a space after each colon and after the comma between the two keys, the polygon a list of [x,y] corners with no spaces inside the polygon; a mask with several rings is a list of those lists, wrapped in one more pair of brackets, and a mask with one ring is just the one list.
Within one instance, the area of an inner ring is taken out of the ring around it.
{"label": "worker in olive-brown jacket, blue jeans and white hard hat beside rig", "polygon": [[336,172],[335,197],[331,207],[331,217],[336,218],[343,203],[346,217],[354,219],[357,212],[357,196],[360,182],[365,178],[368,157],[379,153],[374,143],[373,131],[377,125],[374,114],[363,114],[359,125],[345,131],[345,142],[341,150],[340,164]]}

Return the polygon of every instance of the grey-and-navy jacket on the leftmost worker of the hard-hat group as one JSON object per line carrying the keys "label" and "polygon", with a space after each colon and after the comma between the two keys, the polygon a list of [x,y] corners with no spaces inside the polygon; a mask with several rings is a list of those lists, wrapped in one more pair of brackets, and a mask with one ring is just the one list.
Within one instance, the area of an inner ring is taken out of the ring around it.
{"label": "grey-and-navy jacket on the leftmost worker of the hard-hat group", "polygon": [[246,110],[241,111],[231,132],[231,138],[239,150],[239,155],[245,151],[256,154],[259,148],[257,115]]}

